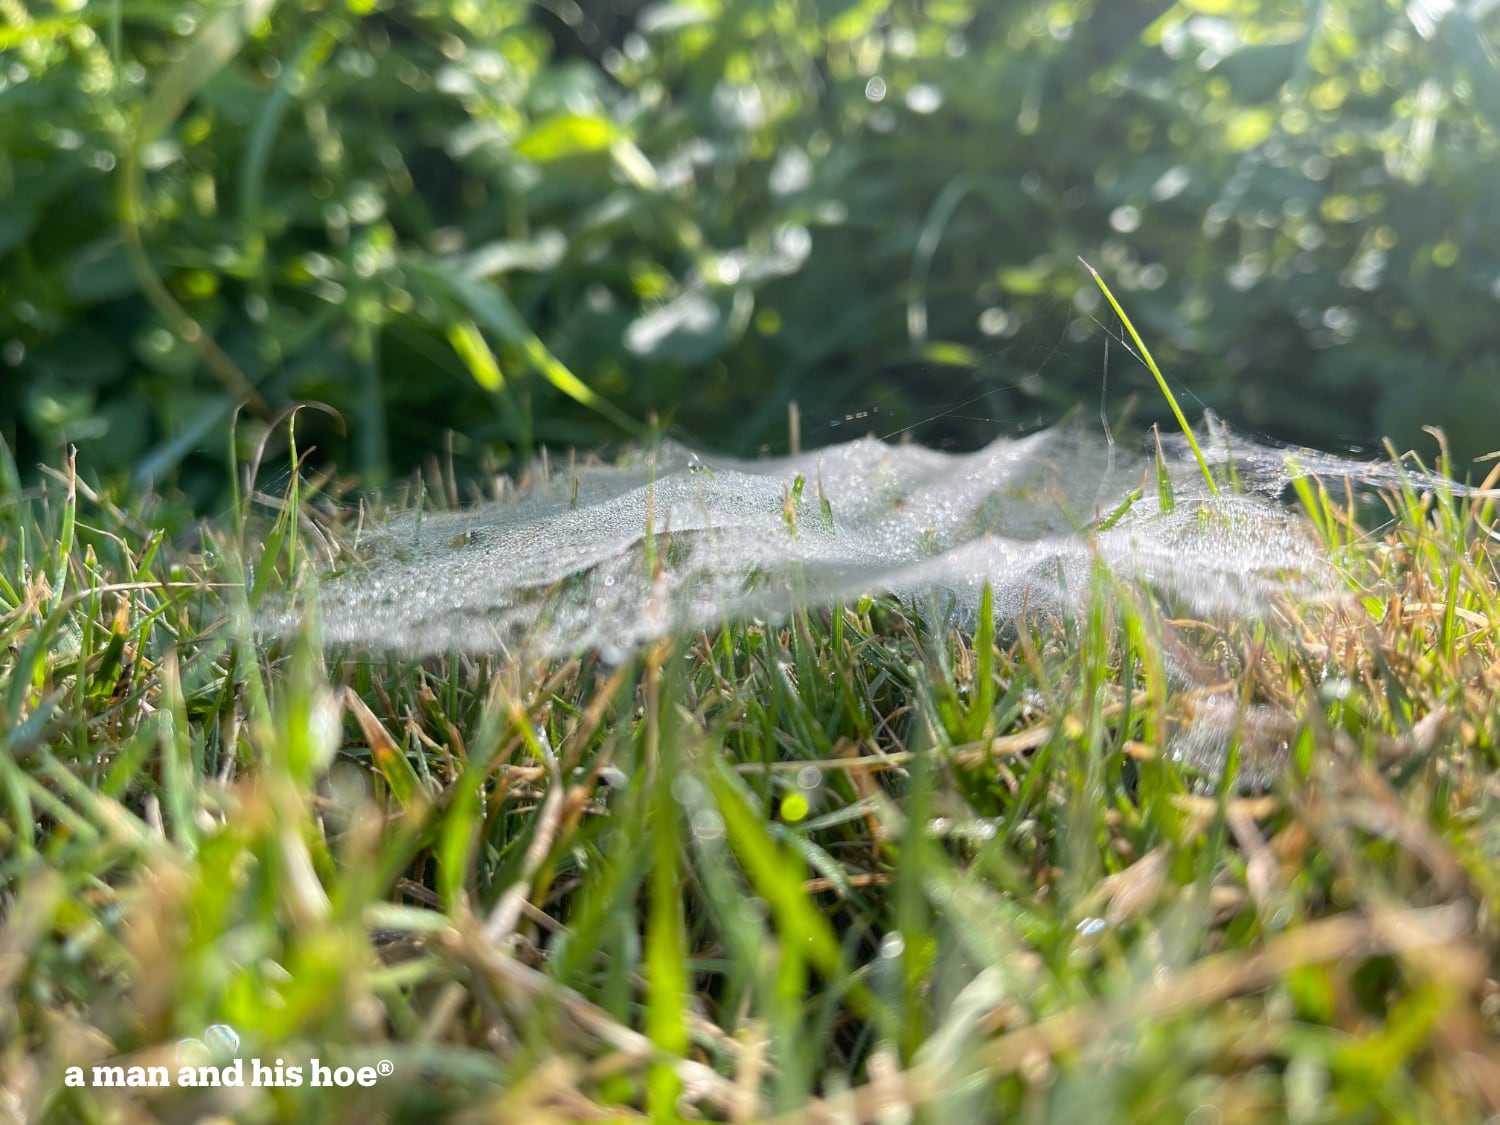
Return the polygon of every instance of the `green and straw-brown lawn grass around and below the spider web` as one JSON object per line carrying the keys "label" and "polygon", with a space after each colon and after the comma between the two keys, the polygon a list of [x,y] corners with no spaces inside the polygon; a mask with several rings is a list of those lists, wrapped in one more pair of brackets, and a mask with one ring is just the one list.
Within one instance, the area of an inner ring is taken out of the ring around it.
{"label": "green and straw-brown lawn grass around and below the spider web", "polygon": [[[1330,489],[1350,597],[1258,621],[1101,572],[1066,621],[411,662],[315,600],[256,634],[354,519],[308,482],[168,542],[6,458],[0,1116],[1485,1120],[1492,510]],[[1178,760],[1226,706],[1222,770]],[[219,1026],[244,1088],[68,1084]]]}

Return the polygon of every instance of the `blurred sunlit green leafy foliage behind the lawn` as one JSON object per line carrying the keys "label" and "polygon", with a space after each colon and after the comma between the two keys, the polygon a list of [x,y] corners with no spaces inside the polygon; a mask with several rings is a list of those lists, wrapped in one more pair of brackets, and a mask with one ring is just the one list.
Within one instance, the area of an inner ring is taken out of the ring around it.
{"label": "blurred sunlit green leafy foliage behind the lawn", "polygon": [[242,402],[372,482],[976,444],[1149,390],[1083,255],[1240,428],[1480,453],[1496,9],[0,0],[0,432],[202,498]]}

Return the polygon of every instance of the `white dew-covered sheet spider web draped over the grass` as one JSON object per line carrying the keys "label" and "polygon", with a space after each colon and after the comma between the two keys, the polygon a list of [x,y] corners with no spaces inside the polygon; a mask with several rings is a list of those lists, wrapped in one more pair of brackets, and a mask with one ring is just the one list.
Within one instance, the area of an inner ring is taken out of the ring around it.
{"label": "white dew-covered sheet spider web draped over the grass", "polygon": [[[324,636],[411,656],[612,662],[668,634],[876,592],[972,621],[988,584],[999,618],[1066,615],[1096,562],[1206,621],[1347,590],[1281,496],[1299,476],[1388,488],[1402,468],[1269,448],[1212,418],[1200,444],[1236,486],[1212,495],[1186,444],[1168,441],[1170,506],[1152,456],[1082,424],[974,453],[864,438],[735,460],[664,444],[615,465],[536,471],[507,500],[364,528],[352,561],[321,582]],[[1208,700],[1184,753],[1214,758],[1220,728],[1246,720],[1236,708]]]}

